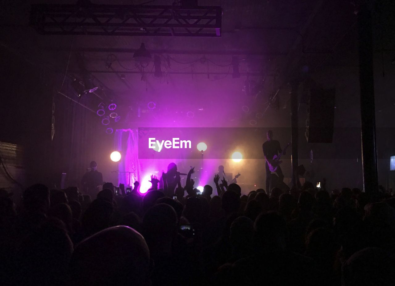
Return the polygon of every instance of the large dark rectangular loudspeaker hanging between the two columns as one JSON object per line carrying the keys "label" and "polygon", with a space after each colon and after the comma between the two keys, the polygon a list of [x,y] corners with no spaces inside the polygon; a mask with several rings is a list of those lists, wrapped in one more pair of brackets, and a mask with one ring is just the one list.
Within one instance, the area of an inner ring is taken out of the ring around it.
{"label": "large dark rectangular loudspeaker hanging between the two columns", "polygon": [[332,143],[335,89],[312,89],[307,107],[305,137],[308,143]]}

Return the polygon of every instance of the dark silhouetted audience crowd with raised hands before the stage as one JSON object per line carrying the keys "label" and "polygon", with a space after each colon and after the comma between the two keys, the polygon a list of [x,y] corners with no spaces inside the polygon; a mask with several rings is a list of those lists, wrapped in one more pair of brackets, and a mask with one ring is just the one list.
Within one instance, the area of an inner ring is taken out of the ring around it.
{"label": "dark silhouetted audience crowd with raised hands before the stage", "polygon": [[[188,173],[151,177],[145,196],[95,198],[34,184],[0,192],[2,285],[395,285],[395,197],[306,182],[289,192],[203,192]],[[160,184],[158,188],[158,184]]]}

